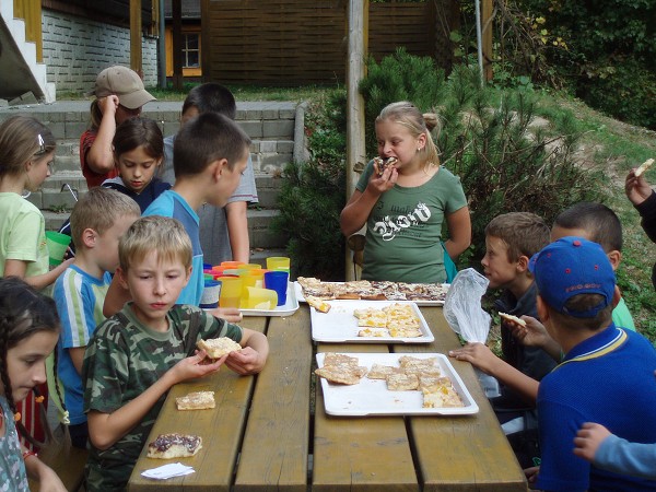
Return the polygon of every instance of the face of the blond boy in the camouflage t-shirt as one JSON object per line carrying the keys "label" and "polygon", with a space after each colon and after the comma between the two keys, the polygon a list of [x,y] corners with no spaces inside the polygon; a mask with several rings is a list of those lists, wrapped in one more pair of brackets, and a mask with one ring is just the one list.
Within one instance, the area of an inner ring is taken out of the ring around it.
{"label": "face of the blond boy in the camouflage t-shirt", "polygon": [[118,270],[120,282],[132,295],[132,311],[144,325],[157,328],[187,285],[191,268],[178,260],[157,259],[153,251],[130,265],[127,272]]}

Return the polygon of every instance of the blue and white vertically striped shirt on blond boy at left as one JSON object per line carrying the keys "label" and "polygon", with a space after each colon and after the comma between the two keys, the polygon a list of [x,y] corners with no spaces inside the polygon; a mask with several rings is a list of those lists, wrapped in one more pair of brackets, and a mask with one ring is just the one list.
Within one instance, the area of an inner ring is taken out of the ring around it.
{"label": "blue and white vertically striped shirt on blond boy at left", "polygon": [[[63,403],[69,411],[71,424],[86,422],[82,409],[84,390],[80,374],[73,365],[69,349],[86,347],[96,327],[105,320],[103,304],[112,276],[105,272],[102,279],[90,276],[71,265],[55,282],[52,296],[61,320],[61,332],[57,343],[58,387],[63,390]],[[48,374],[48,385],[54,388],[54,374]],[[50,391],[58,398],[55,390]]]}

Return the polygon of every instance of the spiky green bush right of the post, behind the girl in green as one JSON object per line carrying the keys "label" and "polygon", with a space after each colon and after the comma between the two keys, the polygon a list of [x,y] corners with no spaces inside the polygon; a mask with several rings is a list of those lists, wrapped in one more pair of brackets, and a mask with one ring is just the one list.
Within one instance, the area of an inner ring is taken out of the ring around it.
{"label": "spiky green bush right of the post, behind the girl in green", "polygon": [[[484,254],[484,227],[494,216],[531,211],[551,223],[570,204],[598,198],[598,173],[575,162],[581,133],[571,118],[561,118],[555,133],[553,125],[535,125],[530,90],[496,94],[481,87],[478,72],[465,66],[455,67],[445,80],[432,61],[417,58],[399,50],[380,65],[370,61],[370,77],[360,87],[367,121],[399,96],[424,113],[437,109],[443,122],[436,141],[442,163],[460,177],[472,212],[473,246],[460,267],[470,261],[478,266]],[[367,140],[367,151],[375,152],[375,141]]]}

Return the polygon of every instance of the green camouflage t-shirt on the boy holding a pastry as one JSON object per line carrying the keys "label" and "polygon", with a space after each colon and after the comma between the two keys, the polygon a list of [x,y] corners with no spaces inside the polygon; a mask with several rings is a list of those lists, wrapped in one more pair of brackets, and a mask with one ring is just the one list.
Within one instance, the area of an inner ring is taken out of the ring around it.
{"label": "green camouflage t-shirt on the boy holding a pastry", "polygon": [[[178,361],[194,353],[200,338],[242,340],[242,328],[189,305],[176,305],[166,315],[168,331],[159,332],[134,316],[132,303],[106,319],[95,331],[84,354],[82,380],[84,412],[112,413],[130,402]],[[87,491],[122,491],[166,399],[112,447],[91,446],[86,462]]]}

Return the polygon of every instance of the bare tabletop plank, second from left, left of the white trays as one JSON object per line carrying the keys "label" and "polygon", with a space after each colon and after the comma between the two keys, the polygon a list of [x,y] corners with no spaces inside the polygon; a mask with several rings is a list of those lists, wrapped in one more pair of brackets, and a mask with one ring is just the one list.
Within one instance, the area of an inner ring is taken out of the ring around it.
{"label": "bare tabletop plank, second from left, left of the white trays", "polygon": [[309,311],[272,317],[267,338],[270,355],[257,376],[242,446],[235,491],[307,489]]}

